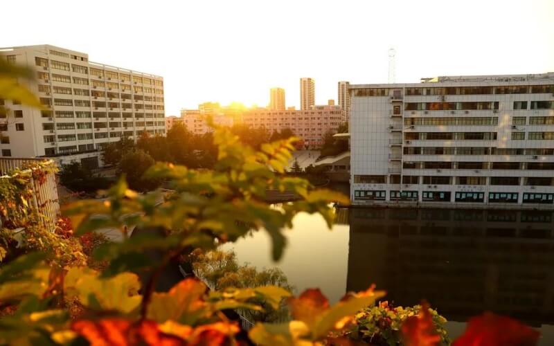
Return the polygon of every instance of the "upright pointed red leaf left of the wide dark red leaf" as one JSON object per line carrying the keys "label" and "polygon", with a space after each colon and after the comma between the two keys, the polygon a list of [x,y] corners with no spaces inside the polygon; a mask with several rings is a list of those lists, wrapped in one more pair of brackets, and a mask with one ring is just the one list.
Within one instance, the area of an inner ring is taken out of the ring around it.
{"label": "upright pointed red leaf left of the wide dark red leaf", "polygon": [[418,316],[406,318],[402,324],[402,336],[406,346],[435,346],[440,343],[440,335],[436,333],[429,304],[422,304]]}

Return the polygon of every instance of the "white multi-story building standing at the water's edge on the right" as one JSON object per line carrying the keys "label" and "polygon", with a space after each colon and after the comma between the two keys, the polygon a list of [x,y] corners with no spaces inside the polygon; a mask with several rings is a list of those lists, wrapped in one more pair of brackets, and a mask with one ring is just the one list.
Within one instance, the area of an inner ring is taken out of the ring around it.
{"label": "white multi-story building standing at the water's edge on the right", "polygon": [[553,208],[554,73],[350,85],[355,204]]}

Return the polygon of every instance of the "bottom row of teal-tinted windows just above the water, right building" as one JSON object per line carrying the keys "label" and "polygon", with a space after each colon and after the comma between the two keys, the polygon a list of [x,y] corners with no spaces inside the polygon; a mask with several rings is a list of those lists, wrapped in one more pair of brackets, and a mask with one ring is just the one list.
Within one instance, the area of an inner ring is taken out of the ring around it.
{"label": "bottom row of teal-tinted windows just above the water, right building", "polygon": [[[418,201],[418,191],[390,191],[391,201]],[[452,192],[423,191],[422,201],[451,201]],[[386,191],[367,191],[355,190],[354,199],[356,200],[377,200],[386,199]],[[519,193],[517,192],[489,192],[489,203],[517,203]],[[454,201],[483,203],[485,201],[485,192],[455,192]],[[554,194],[551,193],[530,193],[524,192],[523,203],[554,203]]]}

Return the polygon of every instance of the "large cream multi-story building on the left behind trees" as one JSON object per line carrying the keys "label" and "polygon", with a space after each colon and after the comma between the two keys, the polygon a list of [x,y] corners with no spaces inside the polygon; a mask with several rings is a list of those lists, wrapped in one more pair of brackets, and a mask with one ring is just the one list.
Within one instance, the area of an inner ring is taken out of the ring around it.
{"label": "large cream multi-story building on the left behind trees", "polygon": [[[42,45],[0,48],[0,57],[29,66],[28,83],[45,109],[1,100],[1,155],[47,156],[98,166],[98,149],[123,136],[166,134],[163,78],[89,62],[85,53]],[[2,121],[5,120],[5,121]]]}

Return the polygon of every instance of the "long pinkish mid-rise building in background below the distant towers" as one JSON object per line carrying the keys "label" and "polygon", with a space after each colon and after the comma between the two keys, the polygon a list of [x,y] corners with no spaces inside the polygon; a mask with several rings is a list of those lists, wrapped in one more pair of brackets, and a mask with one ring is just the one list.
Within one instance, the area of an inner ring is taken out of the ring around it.
{"label": "long pinkish mid-rise building in background below the distant towers", "polygon": [[300,111],[252,109],[244,113],[242,122],[253,128],[265,127],[270,132],[292,129],[301,138],[303,147],[316,149],[323,145],[326,132],[337,132],[343,117],[339,106],[312,106]]}

